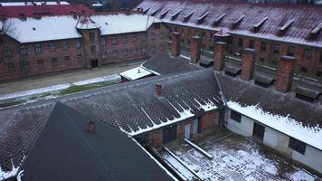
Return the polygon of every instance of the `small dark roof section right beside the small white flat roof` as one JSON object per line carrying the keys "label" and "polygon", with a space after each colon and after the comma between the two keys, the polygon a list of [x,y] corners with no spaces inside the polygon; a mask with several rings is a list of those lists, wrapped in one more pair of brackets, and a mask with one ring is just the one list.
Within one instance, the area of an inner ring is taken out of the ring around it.
{"label": "small dark roof section right beside the small white flat roof", "polygon": [[190,60],[181,56],[174,57],[169,53],[156,55],[141,66],[160,74],[200,70],[200,68],[190,64]]}

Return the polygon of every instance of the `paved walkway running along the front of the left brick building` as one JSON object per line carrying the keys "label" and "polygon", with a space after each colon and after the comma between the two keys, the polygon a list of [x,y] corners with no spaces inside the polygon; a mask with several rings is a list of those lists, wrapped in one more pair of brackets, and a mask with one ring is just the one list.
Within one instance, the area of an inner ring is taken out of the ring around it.
{"label": "paved walkway running along the front of the left brick building", "polygon": [[72,83],[75,81],[83,81],[96,77],[102,77],[110,74],[116,74],[122,71],[139,66],[143,61],[127,62],[118,64],[109,64],[99,69],[81,69],[75,71],[64,71],[50,75],[28,78],[27,80],[8,81],[0,83],[0,95],[9,94],[23,90],[34,90],[52,85]]}

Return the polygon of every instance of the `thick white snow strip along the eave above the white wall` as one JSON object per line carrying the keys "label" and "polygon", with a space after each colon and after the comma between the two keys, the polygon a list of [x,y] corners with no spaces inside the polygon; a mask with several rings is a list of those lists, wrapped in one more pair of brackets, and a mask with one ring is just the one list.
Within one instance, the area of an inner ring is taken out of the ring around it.
{"label": "thick white snow strip along the eave above the white wall", "polygon": [[314,148],[322,150],[322,129],[319,128],[319,125],[314,128],[306,127],[295,119],[266,112],[260,108],[259,104],[242,107],[238,102],[229,101],[227,105],[230,109],[238,111],[251,119],[255,119],[272,129],[276,129],[292,138],[297,138]]}

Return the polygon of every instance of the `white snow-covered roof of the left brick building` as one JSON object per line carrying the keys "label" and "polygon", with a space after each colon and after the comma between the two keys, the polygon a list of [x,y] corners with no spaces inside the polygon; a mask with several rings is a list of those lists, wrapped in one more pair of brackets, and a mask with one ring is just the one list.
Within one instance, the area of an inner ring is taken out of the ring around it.
{"label": "white snow-covered roof of the left brick building", "polygon": [[[83,17],[80,17],[83,18]],[[20,43],[43,42],[50,40],[80,38],[77,29],[99,28],[102,35],[146,31],[154,22],[154,17],[143,14],[99,14],[79,21],[71,15],[43,16],[41,19],[27,17],[26,20],[8,18],[14,31],[8,35]]]}

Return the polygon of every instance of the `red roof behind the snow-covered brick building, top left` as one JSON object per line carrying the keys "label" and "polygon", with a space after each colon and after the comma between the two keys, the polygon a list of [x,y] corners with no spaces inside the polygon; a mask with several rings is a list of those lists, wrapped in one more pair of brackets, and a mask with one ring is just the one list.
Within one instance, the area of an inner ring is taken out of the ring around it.
{"label": "red roof behind the snow-covered brick building, top left", "polygon": [[25,5],[25,6],[0,6],[1,17],[38,17],[43,15],[66,15],[94,13],[86,5]]}

